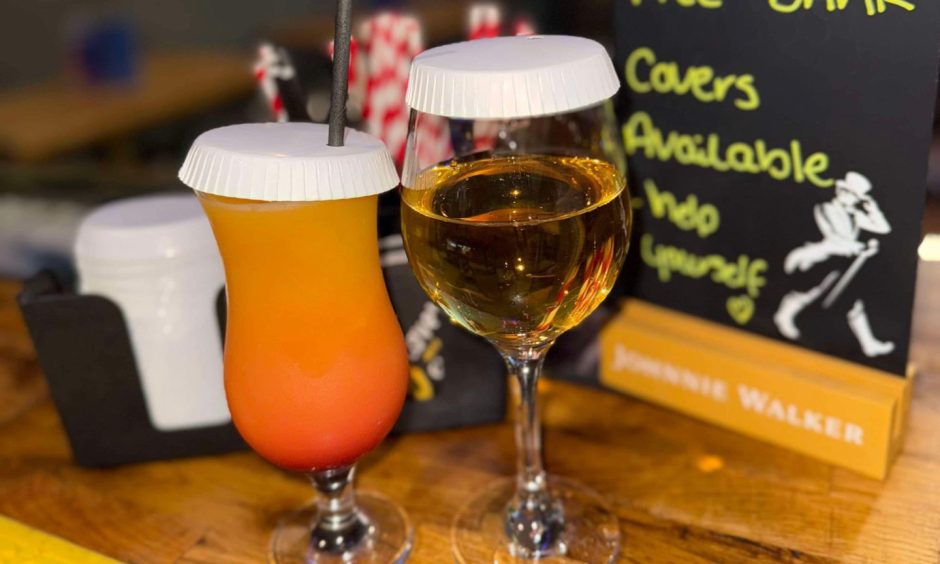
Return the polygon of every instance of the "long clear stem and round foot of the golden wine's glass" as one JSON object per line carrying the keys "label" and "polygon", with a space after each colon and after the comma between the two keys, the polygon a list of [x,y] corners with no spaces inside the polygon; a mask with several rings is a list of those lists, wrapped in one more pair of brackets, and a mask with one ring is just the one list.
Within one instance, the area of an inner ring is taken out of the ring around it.
{"label": "long clear stem and round foot of the golden wine's glass", "polygon": [[500,481],[454,520],[459,562],[614,562],[620,527],[610,507],[589,488],[549,477],[542,464],[537,385],[548,346],[502,350],[519,383],[516,408],[518,475]]}

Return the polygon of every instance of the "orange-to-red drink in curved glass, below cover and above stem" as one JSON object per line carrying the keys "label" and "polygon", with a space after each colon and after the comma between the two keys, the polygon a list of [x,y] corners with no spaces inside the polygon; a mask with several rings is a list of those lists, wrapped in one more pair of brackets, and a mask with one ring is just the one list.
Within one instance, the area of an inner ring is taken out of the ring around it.
{"label": "orange-to-red drink in curved glass, below cover and above stem", "polygon": [[408,386],[379,263],[378,196],[197,194],[225,264],[225,392],[235,426],[283,468],[352,464],[391,430]]}

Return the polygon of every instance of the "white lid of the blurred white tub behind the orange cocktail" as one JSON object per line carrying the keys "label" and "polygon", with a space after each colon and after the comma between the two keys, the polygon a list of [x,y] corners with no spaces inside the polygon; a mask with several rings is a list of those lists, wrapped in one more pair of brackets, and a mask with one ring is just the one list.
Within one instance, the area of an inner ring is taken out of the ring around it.
{"label": "white lid of the blurred white tub behind the orange cocktail", "polygon": [[218,256],[209,220],[193,194],[105,204],[85,216],[75,240],[80,268],[88,263],[152,263],[193,255]]}

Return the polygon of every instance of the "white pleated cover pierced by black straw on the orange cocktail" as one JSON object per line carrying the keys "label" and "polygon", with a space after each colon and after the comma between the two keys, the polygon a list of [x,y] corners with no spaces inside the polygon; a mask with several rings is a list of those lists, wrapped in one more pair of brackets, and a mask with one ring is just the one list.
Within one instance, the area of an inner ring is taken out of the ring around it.
{"label": "white pleated cover pierced by black straw on the orange cocktail", "polygon": [[179,178],[208,194],[266,202],[358,198],[398,186],[385,145],[346,130],[330,147],[319,123],[247,123],[207,131],[193,142]]}

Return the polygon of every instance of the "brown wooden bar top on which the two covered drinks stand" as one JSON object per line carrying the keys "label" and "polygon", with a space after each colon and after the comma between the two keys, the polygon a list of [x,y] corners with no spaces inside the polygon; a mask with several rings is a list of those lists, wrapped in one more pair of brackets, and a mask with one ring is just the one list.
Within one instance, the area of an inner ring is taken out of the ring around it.
{"label": "brown wooden bar top on which the two covered drinks stand", "polygon": [[[604,492],[624,561],[938,562],[938,283],[940,263],[924,263],[913,347],[921,372],[904,452],[884,483],[555,382],[544,390],[548,468]],[[16,290],[0,283],[0,514],[124,561],[261,561],[278,516],[310,497],[305,480],[249,452],[74,466]],[[407,509],[411,562],[446,562],[455,512],[511,475],[514,460],[508,423],[394,437],[363,461],[359,486]]]}

